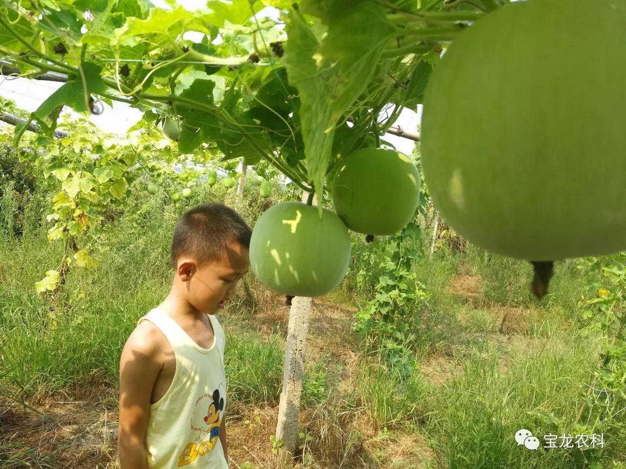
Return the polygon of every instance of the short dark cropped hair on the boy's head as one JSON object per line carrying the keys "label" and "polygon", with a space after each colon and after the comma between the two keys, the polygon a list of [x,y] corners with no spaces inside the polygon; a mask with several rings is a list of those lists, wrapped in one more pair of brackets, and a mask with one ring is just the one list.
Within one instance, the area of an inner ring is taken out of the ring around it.
{"label": "short dark cropped hair on the boy's head", "polygon": [[220,203],[203,203],[183,214],[172,237],[170,263],[176,270],[181,256],[190,256],[198,267],[218,260],[233,241],[250,248],[252,229],[239,213]]}

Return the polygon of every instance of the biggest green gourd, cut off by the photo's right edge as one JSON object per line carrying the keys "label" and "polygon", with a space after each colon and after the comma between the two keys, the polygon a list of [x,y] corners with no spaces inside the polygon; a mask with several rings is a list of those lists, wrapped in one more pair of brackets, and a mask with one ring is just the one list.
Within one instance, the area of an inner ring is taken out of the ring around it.
{"label": "biggest green gourd, cut off by the photo's right edge", "polygon": [[626,2],[529,0],[454,39],[424,99],[424,179],[471,243],[533,261],[626,249]]}

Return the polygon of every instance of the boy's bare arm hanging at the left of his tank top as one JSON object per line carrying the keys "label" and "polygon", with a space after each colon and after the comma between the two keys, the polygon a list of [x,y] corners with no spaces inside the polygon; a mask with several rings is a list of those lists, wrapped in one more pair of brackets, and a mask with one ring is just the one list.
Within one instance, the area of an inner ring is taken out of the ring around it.
{"label": "boy's bare arm hanging at the left of his tank top", "polygon": [[147,469],[144,438],[150,396],[161,365],[150,326],[141,323],[131,333],[120,358],[120,469]]}

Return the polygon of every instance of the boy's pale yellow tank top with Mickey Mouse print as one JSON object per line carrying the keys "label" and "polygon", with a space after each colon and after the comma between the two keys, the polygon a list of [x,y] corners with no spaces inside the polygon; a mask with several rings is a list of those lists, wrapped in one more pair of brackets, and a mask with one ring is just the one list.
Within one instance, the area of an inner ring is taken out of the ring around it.
{"label": "boy's pale yellow tank top with Mickey Mouse print", "polygon": [[176,358],[172,385],[148,413],[145,448],[150,469],[228,469],[218,438],[226,408],[226,338],[217,318],[207,316],[214,333],[210,348],[195,343],[162,310],[154,308],[137,321],[158,327]]}

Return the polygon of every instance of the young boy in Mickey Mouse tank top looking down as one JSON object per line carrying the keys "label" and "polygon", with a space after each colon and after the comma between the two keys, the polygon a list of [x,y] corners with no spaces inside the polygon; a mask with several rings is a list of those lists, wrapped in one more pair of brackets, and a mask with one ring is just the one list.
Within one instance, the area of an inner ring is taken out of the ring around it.
{"label": "young boy in Mickey Mouse tank top looking down", "polygon": [[185,213],[172,240],[167,298],[121,353],[121,469],[227,469],[225,336],[215,317],[250,267],[252,231],[232,209]]}

